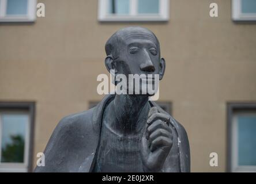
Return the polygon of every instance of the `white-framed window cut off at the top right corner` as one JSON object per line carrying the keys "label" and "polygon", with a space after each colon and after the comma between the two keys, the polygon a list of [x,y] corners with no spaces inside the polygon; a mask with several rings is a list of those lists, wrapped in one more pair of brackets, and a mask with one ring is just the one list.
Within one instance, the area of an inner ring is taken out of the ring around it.
{"label": "white-framed window cut off at the top right corner", "polygon": [[256,21],[256,1],[232,0],[232,19],[234,21]]}

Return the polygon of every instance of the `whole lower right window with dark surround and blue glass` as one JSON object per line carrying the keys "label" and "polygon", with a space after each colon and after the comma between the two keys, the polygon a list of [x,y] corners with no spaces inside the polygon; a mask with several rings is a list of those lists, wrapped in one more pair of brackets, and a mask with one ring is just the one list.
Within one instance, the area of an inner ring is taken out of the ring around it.
{"label": "whole lower right window with dark surround and blue glass", "polygon": [[229,171],[256,171],[256,104],[228,105]]}

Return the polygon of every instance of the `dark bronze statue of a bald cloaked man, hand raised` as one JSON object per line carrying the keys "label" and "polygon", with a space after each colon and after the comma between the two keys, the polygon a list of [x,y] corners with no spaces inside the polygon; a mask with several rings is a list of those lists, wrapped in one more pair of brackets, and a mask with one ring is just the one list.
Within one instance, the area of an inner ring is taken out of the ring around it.
{"label": "dark bronze statue of a bald cloaked man, hand raised", "polygon": [[[158,74],[165,60],[155,34],[140,27],[118,30],[106,43],[107,70]],[[150,94],[106,95],[95,107],[64,117],[36,172],[190,172],[187,133]]]}

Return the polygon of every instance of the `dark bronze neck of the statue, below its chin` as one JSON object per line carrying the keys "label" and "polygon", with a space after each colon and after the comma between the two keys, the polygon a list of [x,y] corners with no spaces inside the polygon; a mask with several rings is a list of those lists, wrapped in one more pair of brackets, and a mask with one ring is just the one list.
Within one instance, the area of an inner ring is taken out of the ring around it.
{"label": "dark bronze neck of the statue, below its chin", "polygon": [[150,105],[146,95],[115,95],[110,104],[110,128],[122,134],[135,134],[144,128]]}

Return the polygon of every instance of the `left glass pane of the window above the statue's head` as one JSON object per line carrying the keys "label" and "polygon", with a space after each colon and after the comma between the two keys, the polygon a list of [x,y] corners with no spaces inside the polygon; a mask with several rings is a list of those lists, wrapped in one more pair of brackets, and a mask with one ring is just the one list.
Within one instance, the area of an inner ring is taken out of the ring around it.
{"label": "left glass pane of the window above the statue's head", "polygon": [[129,14],[130,0],[108,0],[110,14]]}

